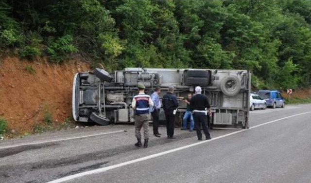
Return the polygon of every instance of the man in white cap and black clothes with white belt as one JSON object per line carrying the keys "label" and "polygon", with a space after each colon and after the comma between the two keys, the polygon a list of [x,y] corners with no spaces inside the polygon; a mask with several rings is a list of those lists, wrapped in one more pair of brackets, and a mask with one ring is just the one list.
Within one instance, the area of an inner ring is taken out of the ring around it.
{"label": "man in white cap and black clothes with white belt", "polygon": [[207,128],[207,110],[208,115],[211,115],[210,106],[207,97],[201,94],[201,87],[195,87],[195,95],[191,97],[190,109],[193,110],[194,126],[196,128],[196,134],[198,140],[202,140],[201,125],[206,137],[206,140],[211,139]]}

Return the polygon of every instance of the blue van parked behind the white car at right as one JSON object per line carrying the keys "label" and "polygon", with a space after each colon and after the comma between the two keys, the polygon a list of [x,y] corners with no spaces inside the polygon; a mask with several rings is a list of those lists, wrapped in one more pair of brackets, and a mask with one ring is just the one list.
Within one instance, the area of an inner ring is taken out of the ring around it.
{"label": "blue van parked behind the white car at right", "polygon": [[275,90],[259,90],[259,96],[266,101],[266,105],[275,109],[276,107],[285,107],[285,99],[279,91]]}

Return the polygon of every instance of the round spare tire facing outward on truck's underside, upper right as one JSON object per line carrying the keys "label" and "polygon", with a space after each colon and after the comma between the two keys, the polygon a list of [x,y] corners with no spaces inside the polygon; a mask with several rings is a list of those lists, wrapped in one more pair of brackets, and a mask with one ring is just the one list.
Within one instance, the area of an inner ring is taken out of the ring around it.
{"label": "round spare tire facing outward on truck's underside, upper right", "polygon": [[225,95],[234,96],[241,90],[241,81],[236,76],[228,75],[221,80],[220,89]]}

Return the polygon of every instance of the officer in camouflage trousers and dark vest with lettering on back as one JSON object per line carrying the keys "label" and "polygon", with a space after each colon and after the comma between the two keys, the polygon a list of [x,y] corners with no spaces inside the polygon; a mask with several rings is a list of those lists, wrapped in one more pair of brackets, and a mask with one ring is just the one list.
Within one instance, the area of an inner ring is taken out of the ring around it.
{"label": "officer in camouflage trousers and dark vest with lettering on back", "polygon": [[140,129],[144,130],[144,147],[148,147],[149,140],[149,108],[154,106],[150,96],[145,94],[145,86],[138,84],[138,95],[134,96],[132,101],[132,108],[135,110],[135,135],[137,143],[135,146],[141,147],[141,134]]}

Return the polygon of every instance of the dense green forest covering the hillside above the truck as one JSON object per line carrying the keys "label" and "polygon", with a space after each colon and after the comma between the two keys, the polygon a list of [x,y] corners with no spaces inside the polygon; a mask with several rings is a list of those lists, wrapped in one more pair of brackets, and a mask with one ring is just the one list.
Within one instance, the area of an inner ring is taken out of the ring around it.
{"label": "dense green forest covering the hillside above the truck", "polygon": [[310,0],[1,0],[0,53],[110,71],[247,69],[256,88],[305,87],[310,12]]}

